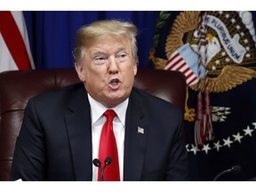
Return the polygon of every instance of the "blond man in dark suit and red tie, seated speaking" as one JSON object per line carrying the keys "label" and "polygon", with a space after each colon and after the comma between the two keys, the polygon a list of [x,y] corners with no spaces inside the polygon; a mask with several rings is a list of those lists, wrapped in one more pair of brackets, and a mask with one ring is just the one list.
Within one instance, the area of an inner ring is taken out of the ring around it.
{"label": "blond man in dark suit and red tie, seated speaking", "polygon": [[[100,180],[105,159],[99,157],[101,130],[108,109],[116,114],[111,121],[116,157],[110,156],[113,163],[104,168],[106,180],[189,179],[182,112],[132,88],[136,35],[134,25],[117,20],[96,21],[77,31],[74,58],[82,83],[28,101],[11,180]],[[100,164],[92,164],[98,158]],[[118,170],[117,179],[108,178],[112,168]]]}

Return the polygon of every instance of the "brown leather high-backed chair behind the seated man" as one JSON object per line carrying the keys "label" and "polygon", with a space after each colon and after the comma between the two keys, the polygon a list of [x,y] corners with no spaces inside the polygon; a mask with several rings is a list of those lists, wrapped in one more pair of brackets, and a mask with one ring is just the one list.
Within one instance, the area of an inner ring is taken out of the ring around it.
{"label": "brown leather high-backed chair behind the seated man", "polygon": [[[9,180],[12,155],[28,99],[79,82],[73,68],[0,73],[0,180]],[[180,72],[139,69],[136,87],[184,109],[186,80]]]}

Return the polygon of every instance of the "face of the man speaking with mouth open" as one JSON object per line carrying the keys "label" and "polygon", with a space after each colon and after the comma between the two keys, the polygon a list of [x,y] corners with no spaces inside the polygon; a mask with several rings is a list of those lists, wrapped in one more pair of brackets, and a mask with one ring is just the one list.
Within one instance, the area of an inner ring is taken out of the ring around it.
{"label": "face of the man speaking with mouth open", "polygon": [[127,39],[104,36],[85,49],[83,63],[76,65],[76,71],[94,100],[114,108],[129,97],[137,63]]}

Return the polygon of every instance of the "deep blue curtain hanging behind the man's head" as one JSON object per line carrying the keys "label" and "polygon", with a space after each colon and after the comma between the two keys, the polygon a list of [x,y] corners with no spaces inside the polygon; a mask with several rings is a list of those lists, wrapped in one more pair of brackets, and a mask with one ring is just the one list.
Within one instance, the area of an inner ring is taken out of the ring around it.
{"label": "deep blue curtain hanging behind the man's head", "polygon": [[30,48],[36,68],[73,68],[72,50],[76,30],[95,20],[132,21],[138,29],[140,68],[150,67],[152,46],[159,12],[24,12]]}

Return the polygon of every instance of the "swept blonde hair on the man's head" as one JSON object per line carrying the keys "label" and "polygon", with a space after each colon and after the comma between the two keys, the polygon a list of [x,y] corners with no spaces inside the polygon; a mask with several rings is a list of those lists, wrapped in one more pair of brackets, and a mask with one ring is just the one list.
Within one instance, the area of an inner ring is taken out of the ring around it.
{"label": "swept blonde hair on the man's head", "polygon": [[130,22],[120,20],[99,20],[77,30],[73,56],[79,63],[84,58],[84,48],[93,44],[100,36],[116,36],[127,38],[131,43],[132,57],[138,63],[137,28]]}

